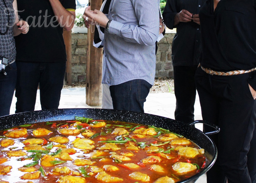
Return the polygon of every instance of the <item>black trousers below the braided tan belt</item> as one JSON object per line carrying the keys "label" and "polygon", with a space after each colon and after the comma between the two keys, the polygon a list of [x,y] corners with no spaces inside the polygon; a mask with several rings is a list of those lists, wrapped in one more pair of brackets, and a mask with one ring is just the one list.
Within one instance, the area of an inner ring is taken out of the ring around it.
{"label": "black trousers below the braided tan belt", "polygon": [[197,69],[202,117],[221,129],[210,136],[218,157],[207,183],[224,183],[226,178],[228,183],[256,182],[256,105],[247,82],[252,74],[219,76]]}

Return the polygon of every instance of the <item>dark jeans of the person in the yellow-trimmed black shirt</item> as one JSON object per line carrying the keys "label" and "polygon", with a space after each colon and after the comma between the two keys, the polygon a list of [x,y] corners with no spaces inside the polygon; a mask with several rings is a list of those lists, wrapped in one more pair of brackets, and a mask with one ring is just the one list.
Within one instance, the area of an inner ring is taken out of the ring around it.
{"label": "dark jeans of the person in the yellow-trimmed black shirt", "polygon": [[42,110],[57,109],[66,71],[66,62],[19,62],[17,64],[16,111],[35,109],[38,85]]}

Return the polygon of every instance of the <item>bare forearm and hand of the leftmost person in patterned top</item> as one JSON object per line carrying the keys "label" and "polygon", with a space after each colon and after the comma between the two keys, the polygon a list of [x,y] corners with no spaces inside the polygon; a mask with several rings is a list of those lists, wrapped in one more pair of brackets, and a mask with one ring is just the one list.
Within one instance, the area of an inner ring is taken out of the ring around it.
{"label": "bare forearm and hand of the leftmost person in patterned top", "polygon": [[[13,26],[13,35],[18,36],[19,34],[26,34],[28,33],[29,26],[26,21],[20,21],[19,16],[18,16],[18,11],[17,11],[17,1],[14,0],[12,3],[14,12],[15,12],[15,24]],[[18,27],[19,26],[19,27]]]}

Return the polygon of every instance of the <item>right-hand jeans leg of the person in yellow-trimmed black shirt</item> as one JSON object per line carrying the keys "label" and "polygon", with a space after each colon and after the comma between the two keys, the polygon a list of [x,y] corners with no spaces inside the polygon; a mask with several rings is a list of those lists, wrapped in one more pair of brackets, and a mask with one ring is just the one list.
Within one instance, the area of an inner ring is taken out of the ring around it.
{"label": "right-hand jeans leg of the person in yellow-trimmed black shirt", "polygon": [[66,62],[44,62],[40,65],[40,102],[42,110],[57,109],[61,98]]}

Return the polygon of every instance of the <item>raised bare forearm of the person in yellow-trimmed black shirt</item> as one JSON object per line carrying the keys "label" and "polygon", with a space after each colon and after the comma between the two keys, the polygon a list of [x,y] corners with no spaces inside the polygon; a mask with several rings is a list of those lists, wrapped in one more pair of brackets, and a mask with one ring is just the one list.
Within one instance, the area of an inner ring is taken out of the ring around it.
{"label": "raised bare forearm of the person in yellow-trimmed black shirt", "polygon": [[75,11],[66,10],[59,0],[49,0],[54,11],[54,15],[58,17],[57,21],[61,27],[69,31],[74,26]]}

